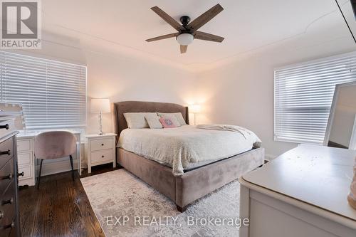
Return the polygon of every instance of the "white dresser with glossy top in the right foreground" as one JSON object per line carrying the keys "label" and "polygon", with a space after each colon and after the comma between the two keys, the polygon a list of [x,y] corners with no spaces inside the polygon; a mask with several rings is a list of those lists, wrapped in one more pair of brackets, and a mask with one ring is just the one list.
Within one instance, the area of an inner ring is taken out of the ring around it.
{"label": "white dresser with glossy top in the right foreground", "polygon": [[356,152],[300,145],[240,178],[240,237],[356,236],[347,203]]}

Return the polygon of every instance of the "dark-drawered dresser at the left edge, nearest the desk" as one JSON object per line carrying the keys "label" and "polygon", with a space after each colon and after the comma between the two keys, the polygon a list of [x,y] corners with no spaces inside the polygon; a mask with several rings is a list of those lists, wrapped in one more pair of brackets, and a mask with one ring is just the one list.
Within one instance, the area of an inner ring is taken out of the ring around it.
{"label": "dark-drawered dresser at the left edge, nearest the desk", "polygon": [[20,236],[16,130],[0,122],[0,236]]}

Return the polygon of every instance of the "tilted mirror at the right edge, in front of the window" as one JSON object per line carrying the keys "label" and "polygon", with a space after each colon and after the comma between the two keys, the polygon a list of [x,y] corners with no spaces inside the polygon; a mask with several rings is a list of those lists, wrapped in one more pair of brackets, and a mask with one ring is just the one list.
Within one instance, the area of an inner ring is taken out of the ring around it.
{"label": "tilted mirror at the right edge, in front of the window", "polygon": [[335,86],[324,145],[356,149],[356,82]]}

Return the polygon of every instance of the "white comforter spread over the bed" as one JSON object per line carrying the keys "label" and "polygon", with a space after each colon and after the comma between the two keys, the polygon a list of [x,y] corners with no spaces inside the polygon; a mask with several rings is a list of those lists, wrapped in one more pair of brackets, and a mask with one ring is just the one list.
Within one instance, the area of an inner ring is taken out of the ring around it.
{"label": "white comforter spread over the bed", "polygon": [[242,127],[201,128],[126,129],[117,146],[172,167],[174,176],[181,176],[189,163],[224,159],[261,145],[253,132]]}

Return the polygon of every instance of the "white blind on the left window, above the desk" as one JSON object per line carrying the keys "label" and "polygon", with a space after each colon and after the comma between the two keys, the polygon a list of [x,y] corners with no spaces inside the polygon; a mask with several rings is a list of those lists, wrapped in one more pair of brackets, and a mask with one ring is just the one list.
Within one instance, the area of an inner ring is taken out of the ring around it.
{"label": "white blind on the left window, above the desk", "polygon": [[0,100],[23,105],[27,129],[85,127],[85,66],[0,51],[0,70]]}

